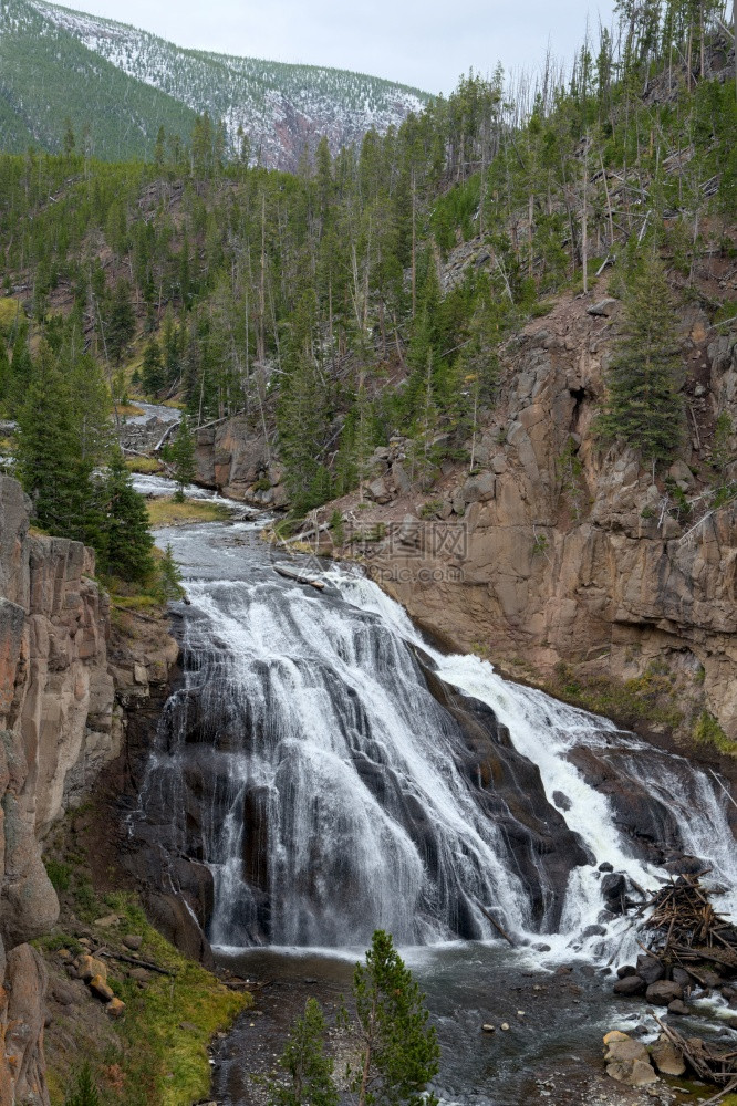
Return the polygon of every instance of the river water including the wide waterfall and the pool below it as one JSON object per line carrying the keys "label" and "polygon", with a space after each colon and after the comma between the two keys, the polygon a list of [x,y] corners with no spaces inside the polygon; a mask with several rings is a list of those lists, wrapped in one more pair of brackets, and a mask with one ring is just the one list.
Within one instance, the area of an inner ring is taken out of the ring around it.
{"label": "river water including the wide waterfall and the pool below it", "polygon": [[131,815],[219,962],[268,984],[222,1044],[217,1102],[260,1100],[247,1072],[280,1051],[294,1002],[330,1010],[380,926],[427,992],[445,1103],[578,1102],[544,1079],[564,1095],[602,1033],[643,1013],[611,997],[608,964],[637,949],[610,875],[621,898],[696,856],[737,912],[725,794],[605,719],[444,655],[351,567],[295,557],[324,591],[284,580],[263,524],[156,534],[189,599],[174,606],[184,679]]}

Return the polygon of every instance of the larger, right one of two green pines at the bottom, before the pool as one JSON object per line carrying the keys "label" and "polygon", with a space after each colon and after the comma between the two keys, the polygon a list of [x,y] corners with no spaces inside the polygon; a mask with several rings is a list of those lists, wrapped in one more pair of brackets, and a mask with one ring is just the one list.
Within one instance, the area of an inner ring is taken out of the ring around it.
{"label": "larger, right one of two green pines at the bottom, before the pool", "polygon": [[376,930],[365,964],[353,977],[361,1064],[351,1088],[359,1106],[437,1106],[426,1091],[437,1075],[440,1051],[427,1024],[424,995],[394,948]]}

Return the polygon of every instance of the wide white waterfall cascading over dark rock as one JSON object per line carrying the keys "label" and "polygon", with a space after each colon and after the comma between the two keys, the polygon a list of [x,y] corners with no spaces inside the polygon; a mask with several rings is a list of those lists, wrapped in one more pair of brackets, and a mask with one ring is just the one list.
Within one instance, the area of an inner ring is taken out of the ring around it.
{"label": "wide white waterfall cascading over dark rock", "polygon": [[217,580],[210,557],[187,581],[183,686],[136,828],[211,873],[212,943],[353,947],[381,927],[616,949],[629,922],[599,865],[652,887],[669,853],[734,895],[727,800],[704,773],[443,655],[365,578],[330,572],[319,594],[264,560]]}

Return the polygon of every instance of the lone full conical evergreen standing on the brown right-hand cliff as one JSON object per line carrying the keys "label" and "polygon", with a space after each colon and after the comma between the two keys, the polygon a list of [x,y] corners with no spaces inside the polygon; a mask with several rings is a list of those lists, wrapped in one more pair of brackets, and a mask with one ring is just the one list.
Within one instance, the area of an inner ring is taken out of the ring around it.
{"label": "lone full conical evergreen standing on the brown right-hand cliff", "polygon": [[677,316],[654,247],[624,298],[623,336],[608,373],[600,437],[622,440],[646,460],[673,457],[683,437],[682,361]]}

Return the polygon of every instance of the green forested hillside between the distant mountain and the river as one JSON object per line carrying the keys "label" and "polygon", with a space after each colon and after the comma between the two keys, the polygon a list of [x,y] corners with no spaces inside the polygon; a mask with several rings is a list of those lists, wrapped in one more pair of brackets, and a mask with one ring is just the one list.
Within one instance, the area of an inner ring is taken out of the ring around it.
{"label": "green forested hillside between the distant mountain and the river", "polygon": [[[550,66],[511,100],[501,74],[470,75],[385,136],[336,157],[323,139],[293,175],[227,159],[201,117],[148,164],[102,164],[73,134],[63,155],[3,156],[6,414],[30,417],[40,374],[178,397],[196,424],[243,411],[297,512],[355,487],[401,429],[429,487],[444,459],[473,466],[515,328],[611,273],[652,374],[635,387],[622,349],[602,447],[673,458],[676,302],[735,313],[714,268],[736,249],[734,54],[719,3],[620,7],[564,83]],[[447,267],[464,242],[474,262]]]}

